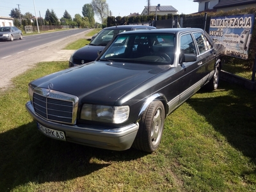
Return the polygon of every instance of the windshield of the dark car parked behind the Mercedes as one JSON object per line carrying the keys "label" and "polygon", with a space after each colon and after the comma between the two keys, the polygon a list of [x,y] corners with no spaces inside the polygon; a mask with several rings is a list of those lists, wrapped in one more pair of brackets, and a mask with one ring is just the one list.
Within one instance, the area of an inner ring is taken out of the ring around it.
{"label": "windshield of the dark car parked behind the Mercedes", "polygon": [[122,33],[126,31],[125,29],[105,29],[100,31],[100,33],[95,36],[95,38],[90,42],[90,45],[97,46],[106,46],[113,37],[115,37],[118,33]]}

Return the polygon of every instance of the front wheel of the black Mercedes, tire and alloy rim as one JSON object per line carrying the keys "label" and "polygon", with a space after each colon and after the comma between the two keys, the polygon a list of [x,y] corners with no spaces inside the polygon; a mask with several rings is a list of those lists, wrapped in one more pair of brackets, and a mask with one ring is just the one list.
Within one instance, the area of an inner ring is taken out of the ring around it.
{"label": "front wheel of the black Mercedes, tire and alloy rim", "polygon": [[163,103],[160,100],[153,101],[141,117],[140,128],[132,147],[145,152],[154,152],[163,135],[164,118]]}

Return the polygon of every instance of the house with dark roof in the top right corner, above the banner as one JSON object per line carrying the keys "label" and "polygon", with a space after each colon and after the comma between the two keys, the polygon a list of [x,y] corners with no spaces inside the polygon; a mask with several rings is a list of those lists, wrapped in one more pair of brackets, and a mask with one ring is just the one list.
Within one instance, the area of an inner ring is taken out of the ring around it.
{"label": "house with dark roof in the top right corner, above the banner", "polygon": [[256,6],[256,0],[194,0],[194,2],[198,3],[198,12],[227,12]]}

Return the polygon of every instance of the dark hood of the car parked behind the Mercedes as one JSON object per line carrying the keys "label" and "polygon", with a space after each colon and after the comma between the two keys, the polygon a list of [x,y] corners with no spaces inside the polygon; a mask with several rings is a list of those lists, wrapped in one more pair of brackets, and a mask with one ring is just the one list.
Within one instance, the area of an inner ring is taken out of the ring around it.
{"label": "dark hood of the car parked behind the Mercedes", "polygon": [[94,61],[98,57],[98,51],[102,51],[105,46],[86,45],[78,49],[73,58],[76,60],[92,60]]}

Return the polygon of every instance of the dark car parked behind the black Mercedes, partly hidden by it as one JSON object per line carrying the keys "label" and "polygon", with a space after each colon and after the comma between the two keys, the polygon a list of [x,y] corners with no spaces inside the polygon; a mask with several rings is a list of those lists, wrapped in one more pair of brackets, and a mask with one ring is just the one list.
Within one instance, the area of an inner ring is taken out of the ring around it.
{"label": "dark car parked behind the black Mercedes, partly hidden by it", "polygon": [[142,25],[124,25],[124,26],[113,26],[102,29],[99,33],[93,35],[90,44],[78,49],[70,56],[69,67],[76,65],[82,65],[90,61],[94,61],[98,54],[98,51],[102,51],[106,45],[112,40],[112,38],[118,33],[124,31],[135,31],[141,29],[156,29],[152,26]]}

